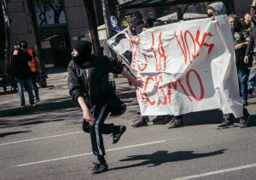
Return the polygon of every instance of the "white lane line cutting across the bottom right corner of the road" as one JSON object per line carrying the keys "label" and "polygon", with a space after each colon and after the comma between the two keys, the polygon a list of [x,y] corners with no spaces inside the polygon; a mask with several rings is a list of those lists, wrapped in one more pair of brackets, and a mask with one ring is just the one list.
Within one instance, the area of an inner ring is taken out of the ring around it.
{"label": "white lane line cutting across the bottom right corner of the road", "polygon": [[189,177],[179,177],[176,179],[172,179],[172,180],[186,180],[186,179],[193,179],[193,178],[198,178],[198,177],[207,177],[207,176],[211,176],[214,174],[220,174],[220,173],[224,173],[224,172],[234,172],[237,170],[241,170],[241,169],[247,169],[247,168],[251,168],[251,167],[256,167],[256,164],[252,164],[252,165],[245,165],[245,166],[237,166],[237,167],[232,167],[229,169],[224,169],[224,170],[219,170],[216,172],[206,172],[206,173],[201,173],[201,174],[195,174],[193,176],[189,176]]}

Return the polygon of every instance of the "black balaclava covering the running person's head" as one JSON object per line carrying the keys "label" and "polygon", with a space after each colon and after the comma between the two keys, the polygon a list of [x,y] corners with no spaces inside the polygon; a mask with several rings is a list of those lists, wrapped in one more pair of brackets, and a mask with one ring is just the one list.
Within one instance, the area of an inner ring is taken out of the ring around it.
{"label": "black balaclava covering the running person's head", "polygon": [[81,41],[78,42],[74,49],[79,52],[77,57],[73,57],[73,61],[78,65],[83,65],[85,62],[90,60],[91,53],[91,42]]}

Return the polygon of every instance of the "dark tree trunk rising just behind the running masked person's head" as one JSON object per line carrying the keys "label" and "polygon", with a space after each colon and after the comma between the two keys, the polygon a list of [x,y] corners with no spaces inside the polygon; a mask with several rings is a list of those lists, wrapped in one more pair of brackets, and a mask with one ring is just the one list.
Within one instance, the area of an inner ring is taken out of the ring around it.
{"label": "dark tree trunk rising just behind the running masked person's head", "polygon": [[84,0],[84,7],[86,10],[89,26],[90,36],[93,45],[93,50],[96,55],[102,55],[102,48],[99,41],[97,25],[96,25],[96,14],[93,5],[93,0]]}

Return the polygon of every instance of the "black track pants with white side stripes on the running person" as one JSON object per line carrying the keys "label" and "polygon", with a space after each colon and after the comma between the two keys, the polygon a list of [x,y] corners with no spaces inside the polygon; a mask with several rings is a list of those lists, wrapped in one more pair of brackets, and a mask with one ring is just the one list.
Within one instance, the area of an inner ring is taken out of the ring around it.
{"label": "black track pants with white side stripes on the running person", "polygon": [[110,110],[107,104],[95,105],[90,113],[95,117],[94,125],[90,126],[87,121],[83,121],[84,132],[90,133],[92,152],[94,155],[106,155],[102,134],[118,132],[119,127],[111,124],[104,124]]}

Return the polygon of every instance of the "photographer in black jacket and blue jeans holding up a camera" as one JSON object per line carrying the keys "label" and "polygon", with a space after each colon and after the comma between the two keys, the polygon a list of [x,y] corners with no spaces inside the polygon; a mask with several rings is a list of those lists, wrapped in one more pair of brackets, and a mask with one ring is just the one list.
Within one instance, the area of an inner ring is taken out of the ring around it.
{"label": "photographer in black jacket and blue jeans holding up a camera", "polygon": [[32,60],[32,56],[27,53],[26,49],[20,47],[20,42],[15,42],[14,44],[14,52],[12,54],[12,63],[13,68],[15,68],[15,79],[18,86],[18,94],[20,98],[20,105],[22,108],[25,107],[25,97],[23,93],[23,87],[25,87],[29,102],[32,106],[35,106],[34,95],[32,92],[32,71],[28,65],[28,61]]}

